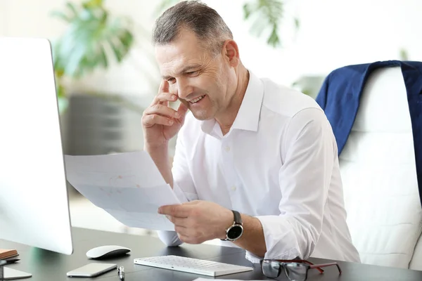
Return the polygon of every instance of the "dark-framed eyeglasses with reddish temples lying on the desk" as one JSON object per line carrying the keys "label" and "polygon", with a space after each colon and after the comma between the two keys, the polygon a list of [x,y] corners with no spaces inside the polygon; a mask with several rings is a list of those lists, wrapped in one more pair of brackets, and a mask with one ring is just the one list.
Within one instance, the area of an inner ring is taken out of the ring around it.
{"label": "dark-framed eyeglasses with reddish temples lying on the desk", "polygon": [[309,269],[316,268],[320,273],[324,273],[322,268],[326,266],[337,266],[338,273],[341,274],[341,269],[340,266],[338,266],[338,263],[313,264],[309,261],[303,260],[274,259],[264,259],[260,263],[262,274],[269,278],[279,277],[281,270],[283,270],[286,277],[288,277],[288,280],[305,281],[307,280],[307,273]]}

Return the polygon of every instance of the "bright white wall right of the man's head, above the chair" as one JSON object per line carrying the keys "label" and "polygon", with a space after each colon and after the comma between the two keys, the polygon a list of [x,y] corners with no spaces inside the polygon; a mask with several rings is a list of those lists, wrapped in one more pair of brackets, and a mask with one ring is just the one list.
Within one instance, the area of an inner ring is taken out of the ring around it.
{"label": "bright white wall right of the man's head, above the chair", "polygon": [[[224,17],[246,65],[260,76],[290,84],[302,74],[327,74],[336,67],[399,59],[422,60],[421,0],[287,0],[286,48],[274,50],[242,25],[243,1],[209,0]],[[300,18],[295,40],[292,16]]]}

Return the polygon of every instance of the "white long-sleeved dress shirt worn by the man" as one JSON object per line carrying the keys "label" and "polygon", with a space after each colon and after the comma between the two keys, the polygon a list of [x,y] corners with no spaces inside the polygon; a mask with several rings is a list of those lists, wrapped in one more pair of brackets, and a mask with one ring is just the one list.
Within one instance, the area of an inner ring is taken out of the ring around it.
{"label": "white long-sleeved dress shirt worn by the man", "polygon": [[[172,174],[182,202],[207,200],[258,218],[264,259],[360,261],[346,223],[335,138],[324,112],[305,94],[250,72],[225,136],[215,119],[188,113]],[[158,235],[167,245],[181,244],[174,232]],[[246,258],[259,261],[248,251]]]}

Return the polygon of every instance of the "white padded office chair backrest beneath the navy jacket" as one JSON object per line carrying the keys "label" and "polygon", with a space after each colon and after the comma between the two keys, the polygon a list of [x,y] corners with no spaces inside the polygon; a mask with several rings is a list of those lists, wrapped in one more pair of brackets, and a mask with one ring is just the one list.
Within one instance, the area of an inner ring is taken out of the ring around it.
{"label": "white padded office chair backrest beneath the navy jacket", "polygon": [[400,67],[369,76],[339,160],[347,223],[362,263],[408,268],[422,211]]}

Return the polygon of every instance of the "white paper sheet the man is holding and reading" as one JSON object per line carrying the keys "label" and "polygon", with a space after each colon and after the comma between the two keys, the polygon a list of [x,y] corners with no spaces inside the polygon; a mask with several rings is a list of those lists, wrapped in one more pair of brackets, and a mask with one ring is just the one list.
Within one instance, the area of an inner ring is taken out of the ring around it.
{"label": "white paper sheet the man is holding and reading", "polygon": [[174,231],[158,208],[180,201],[147,152],[65,155],[65,169],[77,191],[124,225]]}

